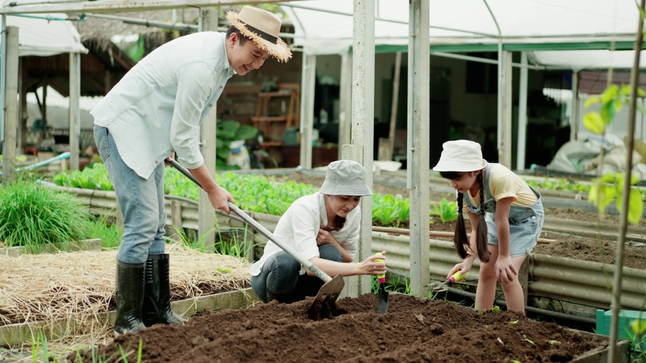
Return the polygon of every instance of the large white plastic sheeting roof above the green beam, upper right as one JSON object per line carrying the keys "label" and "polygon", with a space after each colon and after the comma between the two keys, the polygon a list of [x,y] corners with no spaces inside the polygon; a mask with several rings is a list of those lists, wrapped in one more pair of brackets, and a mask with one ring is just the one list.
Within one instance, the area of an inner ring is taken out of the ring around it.
{"label": "large white plastic sheeting roof above the green beam, upper right", "polygon": [[[375,1],[375,45],[408,45],[408,1]],[[431,45],[497,45],[499,32],[487,5],[505,44],[633,41],[639,18],[634,0],[430,0]],[[348,52],[353,1],[281,6],[294,23],[295,45],[304,52]]]}

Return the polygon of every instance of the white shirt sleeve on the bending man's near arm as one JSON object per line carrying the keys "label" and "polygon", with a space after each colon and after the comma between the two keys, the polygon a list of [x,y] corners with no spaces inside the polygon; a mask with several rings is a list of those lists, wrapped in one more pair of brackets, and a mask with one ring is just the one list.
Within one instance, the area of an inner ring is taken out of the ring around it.
{"label": "white shirt sleeve on the bending man's near arm", "polygon": [[176,72],[177,96],[171,121],[171,145],[178,161],[187,169],[197,169],[204,163],[200,153],[200,116],[209,95],[218,85],[213,67],[193,62]]}

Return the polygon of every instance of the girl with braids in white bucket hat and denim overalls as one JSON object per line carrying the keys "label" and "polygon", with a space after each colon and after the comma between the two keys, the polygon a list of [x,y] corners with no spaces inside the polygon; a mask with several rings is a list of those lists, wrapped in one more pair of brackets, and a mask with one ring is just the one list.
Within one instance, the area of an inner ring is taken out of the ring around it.
{"label": "girl with braids in white bucket hat and denim overalls", "polygon": [[[491,309],[497,281],[505,293],[507,309],[525,313],[517,271],[543,227],[541,194],[504,165],[487,163],[474,141],[445,142],[433,171],[440,172],[457,191],[459,214],[453,243],[463,262],[453,266],[447,278],[458,270],[469,271],[477,254],[482,263],[475,308]],[[463,208],[474,232],[470,241]]]}

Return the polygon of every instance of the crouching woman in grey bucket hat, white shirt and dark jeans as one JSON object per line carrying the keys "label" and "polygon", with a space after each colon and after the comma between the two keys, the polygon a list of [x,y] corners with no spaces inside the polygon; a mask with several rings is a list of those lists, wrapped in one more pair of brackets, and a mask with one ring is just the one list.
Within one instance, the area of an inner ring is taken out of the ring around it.
{"label": "crouching woman in grey bucket hat, white shirt and dark jeans", "polygon": [[[386,264],[375,259],[385,260],[384,257],[373,255],[352,263],[359,242],[359,201],[371,194],[360,163],[334,161],[328,165],[320,190],[289,206],[274,235],[330,276],[382,275]],[[304,300],[306,296],[316,296],[323,285],[322,280],[271,241],[249,273],[253,291],[264,302]]]}

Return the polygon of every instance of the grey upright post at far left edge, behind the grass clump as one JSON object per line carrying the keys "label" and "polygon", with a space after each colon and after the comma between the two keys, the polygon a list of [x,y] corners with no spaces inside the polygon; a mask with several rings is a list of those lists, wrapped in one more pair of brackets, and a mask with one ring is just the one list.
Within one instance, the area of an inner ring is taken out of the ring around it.
{"label": "grey upright post at far left edge, behind the grass clump", "polygon": [[[5,24],[5,23],[3,23]],[[6,79],[4,94],[5,142],[3,142],[3,184],[11,183],[16,179],[16,136],[18,127],[18,28],[6,27],[5,74]]]}

